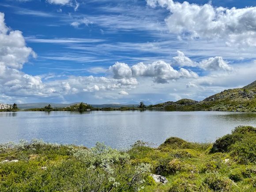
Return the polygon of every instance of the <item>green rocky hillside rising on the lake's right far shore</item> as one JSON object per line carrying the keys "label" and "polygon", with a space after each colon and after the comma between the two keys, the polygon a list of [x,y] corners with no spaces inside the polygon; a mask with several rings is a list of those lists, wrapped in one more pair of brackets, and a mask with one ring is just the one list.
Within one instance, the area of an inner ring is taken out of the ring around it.
{"label": "green rocky hillside rising on the lake's right far shore", "polygon": [[256,81],[237,89],[224,90],[201,102],[181,99],[177,102],[166,102],[153,106],[154,109],[177,111],[241,111],[256,112]]}

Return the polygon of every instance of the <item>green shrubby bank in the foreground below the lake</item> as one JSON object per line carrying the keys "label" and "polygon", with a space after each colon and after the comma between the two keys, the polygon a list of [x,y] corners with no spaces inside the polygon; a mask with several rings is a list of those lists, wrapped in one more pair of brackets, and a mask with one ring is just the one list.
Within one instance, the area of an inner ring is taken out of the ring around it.
{"label": "green shrubby bank in the foreground below the lake", "polygon": [[[2,162],[18,160],[19,162]],[[215,143],[169,138],[127,151],[32,140],[0,145],[0,191],[256,190],[256,128],[237,127]],[[150,176],[160,174],[167,184]]]}

